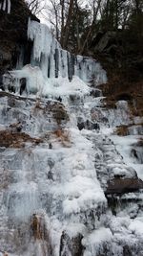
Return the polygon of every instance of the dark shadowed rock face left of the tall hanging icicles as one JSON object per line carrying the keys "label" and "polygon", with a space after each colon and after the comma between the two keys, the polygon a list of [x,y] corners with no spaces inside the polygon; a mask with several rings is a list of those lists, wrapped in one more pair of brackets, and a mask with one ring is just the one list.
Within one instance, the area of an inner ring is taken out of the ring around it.
{"label": "dark shadowed rock face left of the tall hanging icicles", "polygon": [[22,48],[25,63],[30,62],[31,43],[27,38],[30,16],[38,21],[24,0],[12,0],[10,13],[0,10],[0,78],[4,72],[16,66]]}

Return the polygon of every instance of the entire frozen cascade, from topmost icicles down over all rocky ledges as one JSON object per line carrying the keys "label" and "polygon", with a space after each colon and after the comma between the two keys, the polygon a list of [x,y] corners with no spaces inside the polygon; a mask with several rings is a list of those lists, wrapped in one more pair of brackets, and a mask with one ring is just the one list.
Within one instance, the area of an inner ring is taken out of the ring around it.
{"label": "entire frozen cascade, from topmost icicles down over all rocky ledges", "polygon": [[142,256],[143,183],[111,135],[132,123],[127,103],[107,109],[87,85],[105,71],[72,58],[48,28],[30,21],[29,36],[31,64],[0,92],[0,256]]}

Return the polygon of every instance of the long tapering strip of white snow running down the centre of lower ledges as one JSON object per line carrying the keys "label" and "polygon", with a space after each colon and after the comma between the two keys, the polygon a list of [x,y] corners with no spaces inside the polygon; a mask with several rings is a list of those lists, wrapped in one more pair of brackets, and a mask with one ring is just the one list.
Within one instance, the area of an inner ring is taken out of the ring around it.
{"label": "long tapering strip of white snow running down the centre of lower ledges", "polygon": [[94,172],[92,145],[78,130],[72,128],[70,131],[72,148],[62,164],[62,184],[51,188],[55,197],[59,197],[59,193],[64,196],[65,215],[79,214],[89,208],[106,205],[106,198]]}

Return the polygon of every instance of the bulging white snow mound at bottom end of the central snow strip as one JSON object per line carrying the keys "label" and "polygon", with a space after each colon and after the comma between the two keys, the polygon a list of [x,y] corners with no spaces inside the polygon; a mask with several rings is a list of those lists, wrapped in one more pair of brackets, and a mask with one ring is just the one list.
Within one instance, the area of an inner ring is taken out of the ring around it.
{"label": "bulging white snow mound at bottom end of the central snow strip", "polygon": [[75,176],[71,183],[66,184],[65,193],[69,198],[63,202],[66,215],[95,209],[99,203],[106,203],[103,191],[98,182],[91,178]]}

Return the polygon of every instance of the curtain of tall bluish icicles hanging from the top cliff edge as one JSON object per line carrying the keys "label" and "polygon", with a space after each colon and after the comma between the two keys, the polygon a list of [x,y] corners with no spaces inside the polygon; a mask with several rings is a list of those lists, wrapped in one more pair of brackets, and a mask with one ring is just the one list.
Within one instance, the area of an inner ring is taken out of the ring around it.
{"label": "curtain of tall bluish icicles hanging from the top cliff edge", "polygon": [[30,19],[28,37],[33,41],[31,65],[40,66],[44,76],[70,80],[72,76],[77,76],[86,82],[94,80],[97,84],[107,81],[106,72],[97,61],[75,57],[63,50],[46,25]]}

